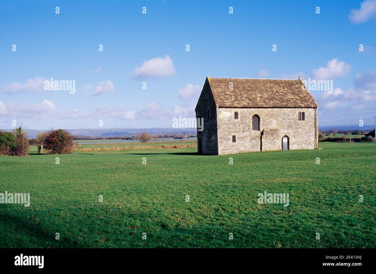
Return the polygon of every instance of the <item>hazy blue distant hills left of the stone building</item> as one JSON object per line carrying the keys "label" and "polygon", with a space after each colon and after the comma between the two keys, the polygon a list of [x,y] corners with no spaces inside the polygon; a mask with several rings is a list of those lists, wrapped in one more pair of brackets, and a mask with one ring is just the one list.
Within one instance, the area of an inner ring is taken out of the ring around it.
{"label": "hazy blue distant hills left of the stone building", "polygon": [[[3,129],[4,131],[12,131],[13,129]],[[196,128],[83,128],[83,129],[66,129],[73,135],[86,135],[91,137],[110,137],[110,136],[124,136],[137,135],[143,131],[149,134],[173,134],[192,135],[196,134]],[[27,138],[36,138],[38,132],[45,130],[25,129]]]}

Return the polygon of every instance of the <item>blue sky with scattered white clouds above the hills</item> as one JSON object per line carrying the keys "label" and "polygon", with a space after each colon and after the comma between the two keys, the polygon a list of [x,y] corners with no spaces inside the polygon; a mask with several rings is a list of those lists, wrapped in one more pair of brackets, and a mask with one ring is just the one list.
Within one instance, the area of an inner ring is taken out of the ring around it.
{"label": "blue sky with scattered white clouds above the hills", "polygon": [[[0,129],[12,120],[172,127],[173,117],[194,117],[206,75],[333,80],[333,93],[311,91],[320,125],[373,124],[376,114],[376,0],[12,1],[0,10]],[[45,91],[50,78],[75,80],[75,93]]]}

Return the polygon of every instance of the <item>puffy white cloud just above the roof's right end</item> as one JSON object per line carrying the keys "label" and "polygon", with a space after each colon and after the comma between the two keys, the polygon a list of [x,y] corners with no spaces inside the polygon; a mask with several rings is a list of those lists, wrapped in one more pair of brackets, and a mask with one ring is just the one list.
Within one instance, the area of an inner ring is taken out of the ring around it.
{"label": "puffy white cloud just above the roof's right end", "polygon": [[338,58],[334,58],[327,62],[326,67],[320,67],[312,70],[315,79],[332,80],[336,77],[342,77],[349,74],[351,66],[345,61],[338,62]]}

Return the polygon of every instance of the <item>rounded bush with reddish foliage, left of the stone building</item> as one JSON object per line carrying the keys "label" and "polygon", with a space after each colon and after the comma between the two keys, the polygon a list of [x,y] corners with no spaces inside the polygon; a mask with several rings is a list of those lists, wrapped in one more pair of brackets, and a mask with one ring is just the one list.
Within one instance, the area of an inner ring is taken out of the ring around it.
{"label": "rounded bush with reddish foliage, left of the stone building", "polygon": [[64,129],[50,131],[42,144],[50,154],[67,154],[74,150],[73,135]]}

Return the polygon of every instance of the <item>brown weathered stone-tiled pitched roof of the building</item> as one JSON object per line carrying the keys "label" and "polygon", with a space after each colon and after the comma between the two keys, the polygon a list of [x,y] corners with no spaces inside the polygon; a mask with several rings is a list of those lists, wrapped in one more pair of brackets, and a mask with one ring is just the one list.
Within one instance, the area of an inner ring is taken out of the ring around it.
{"label": "brown weathered stone-tiled pitched roof of the building", "polygon": [[[300,79],[250,79],[207,77],[217,107],[317,108]],[[229,88],[232,82],[232,90]],[[303,87],[303,88],[302,88]]]}

